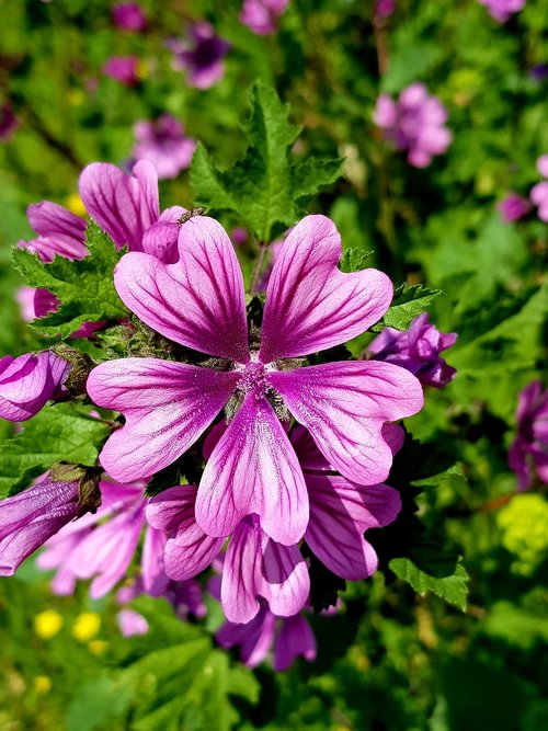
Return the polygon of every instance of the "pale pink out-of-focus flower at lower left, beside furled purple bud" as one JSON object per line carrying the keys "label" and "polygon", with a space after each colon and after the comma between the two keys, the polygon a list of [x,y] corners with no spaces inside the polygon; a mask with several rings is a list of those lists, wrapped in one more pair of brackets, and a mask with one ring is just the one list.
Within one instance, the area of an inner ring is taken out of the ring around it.
{"label": "pale pink out-of-focus flower at lower left, beside furled purple bud", "polygon": [[141,552],[142,591],[161,595],[169,579],[163,571],[163,534],[147,526],[141,484],[101,481],[103,502],[94,515],[60,530],[38,557],[41,569],[56,569],[56,594],[71,594],[77,579],[93,579],[90,594],[107,594],[128,571],[146,527]]}

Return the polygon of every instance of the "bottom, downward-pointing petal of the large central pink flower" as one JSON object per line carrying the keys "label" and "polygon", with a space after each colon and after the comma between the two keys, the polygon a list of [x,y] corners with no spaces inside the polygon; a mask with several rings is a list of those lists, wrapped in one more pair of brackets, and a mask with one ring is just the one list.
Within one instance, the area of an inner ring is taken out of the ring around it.
{"label": "bottom, downward-pointing petal of the large central pink flower", "polygon": [[196,521],[210,536],[228,536],[256,513],[277,542],[298,542],[308,496],[297,456],[263,397],[249,395],[215,447],[199,483]]}

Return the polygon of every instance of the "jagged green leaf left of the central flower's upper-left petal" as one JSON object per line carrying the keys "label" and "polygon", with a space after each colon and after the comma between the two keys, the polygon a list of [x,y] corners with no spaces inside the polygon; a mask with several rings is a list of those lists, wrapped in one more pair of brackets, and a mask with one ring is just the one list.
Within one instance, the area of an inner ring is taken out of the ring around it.
{"label": "jagged green leaf left of the central flower's upper-left petal", "polygon": [[68,338],[84,322],[118,320],[128,310],[114,288],[113,273],[124,251],[93,221],[85,231],[89,255],[78,261],[56,256],[44,264],[25,249],[13,250],[16,269],[31,287],[45,287],[60,305],[56,312],[39,318],[33,325],[45,335]]}

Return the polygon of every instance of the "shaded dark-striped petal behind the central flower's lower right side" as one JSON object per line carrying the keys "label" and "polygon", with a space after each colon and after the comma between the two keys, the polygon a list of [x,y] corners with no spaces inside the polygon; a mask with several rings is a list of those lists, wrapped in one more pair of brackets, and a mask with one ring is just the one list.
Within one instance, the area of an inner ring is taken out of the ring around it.
{"label": "shaded dark-striped petal behind the central flower's lower right side", "polygon": [[342,477],[307,475],[310,521],[305,539],[330,571],[361,581],[377,569],[377,555],[364,530],[391,523],[401,506],[399,493],[385,484],[369,487]]}

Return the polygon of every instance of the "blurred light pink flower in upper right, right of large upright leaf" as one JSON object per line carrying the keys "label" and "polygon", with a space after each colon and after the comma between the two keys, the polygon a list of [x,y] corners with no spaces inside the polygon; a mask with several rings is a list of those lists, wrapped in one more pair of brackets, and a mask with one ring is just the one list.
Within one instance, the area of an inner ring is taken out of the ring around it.
{"label": "blurred light pink flower in upper right, right of large upright leaf", "polygon": [[408,150],[408,161],[415,168],[426,168],[432,157],[445,152],[453,139],[444,126],[447,111],[423,83],[403,89],[397,102],[381,94],[373,121],[396,149]]}

